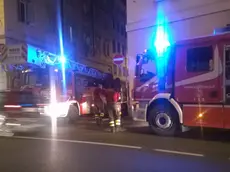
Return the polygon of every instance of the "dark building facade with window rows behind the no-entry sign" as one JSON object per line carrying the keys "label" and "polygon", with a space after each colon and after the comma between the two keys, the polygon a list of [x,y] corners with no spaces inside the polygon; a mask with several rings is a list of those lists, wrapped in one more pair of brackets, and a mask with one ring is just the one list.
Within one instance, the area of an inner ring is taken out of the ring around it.
{"label": "dark building facade with window rows behind the no-entry sign", "polygon": [[[113,64],[115,55],[126,57],[124,0],[63,1],[63,23],[67,57],[125,81],[126,60],[121,66]],[[82,75],[77,80],[81,92],[89,80]]]}

